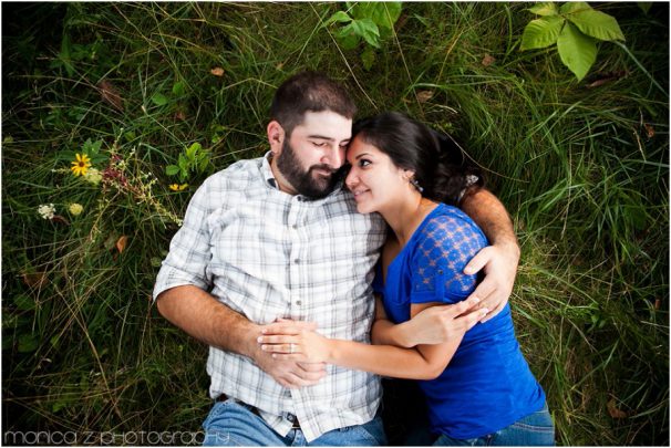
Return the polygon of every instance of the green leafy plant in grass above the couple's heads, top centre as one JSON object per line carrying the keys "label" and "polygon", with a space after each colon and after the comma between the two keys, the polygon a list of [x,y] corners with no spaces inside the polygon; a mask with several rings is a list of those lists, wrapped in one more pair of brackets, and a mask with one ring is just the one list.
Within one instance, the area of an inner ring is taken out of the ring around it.
{"label": "green leafy plant in grass above the couple's heads, top centre", "polygon": [[326,21],[324,27],[340,23],[336,39],[345,49],[355,49],[361,41],[367,43],[361,53],[363,67],[370,70],[375,62],[375,49],[381,48],[381,41],[392,35],[394,23],[401,15],[401,2],[345,2],[347,10],[338,11]]}

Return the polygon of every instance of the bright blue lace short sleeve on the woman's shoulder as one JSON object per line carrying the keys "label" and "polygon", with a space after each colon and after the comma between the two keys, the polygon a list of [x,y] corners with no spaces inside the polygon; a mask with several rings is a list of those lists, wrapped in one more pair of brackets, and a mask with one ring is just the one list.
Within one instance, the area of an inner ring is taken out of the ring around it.
{"label": "bright blue lace short sleeve on the woman's shoulder", "polygon": [[454,216],[432,219],[419,236],[411,260],[411,303],[456,303],[475,290],[477,277],[464,274],[487,240],[473,221]]}

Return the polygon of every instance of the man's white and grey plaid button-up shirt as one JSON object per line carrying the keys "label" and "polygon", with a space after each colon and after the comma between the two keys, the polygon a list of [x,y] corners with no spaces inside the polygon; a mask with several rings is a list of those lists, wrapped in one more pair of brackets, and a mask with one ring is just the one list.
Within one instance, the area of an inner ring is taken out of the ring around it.
{"label": "man's white and grey plaid button-up shirt", "polygon": [[[358,213],[343,188],[308,200],[276,187],[268,155],[238,162],[192,198],[154,298],[193,284],[258,324],[317,322],[324,336],[370,343],[371,283],[385,229],[379,215]],[[207,373],[213,398],[226,394],[257,407],[282,436],[293,414],[309,441],[370,421],[381,399],[375,375],[333,365],[318,384],[288,389],[251,360],[210,347]]]}

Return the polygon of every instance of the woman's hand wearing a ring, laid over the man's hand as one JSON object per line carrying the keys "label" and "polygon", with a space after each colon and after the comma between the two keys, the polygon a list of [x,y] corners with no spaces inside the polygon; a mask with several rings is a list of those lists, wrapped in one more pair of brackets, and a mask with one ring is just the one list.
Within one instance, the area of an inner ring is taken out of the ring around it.
{"label": "woman's hand wearing a ring, laid over the man's hand", "polygon": [[304,363],[326,363],[331,358],[330,340],[313,331],[306,323],[281,320],[265,325],[257,338],[264,352],[276,360]]}

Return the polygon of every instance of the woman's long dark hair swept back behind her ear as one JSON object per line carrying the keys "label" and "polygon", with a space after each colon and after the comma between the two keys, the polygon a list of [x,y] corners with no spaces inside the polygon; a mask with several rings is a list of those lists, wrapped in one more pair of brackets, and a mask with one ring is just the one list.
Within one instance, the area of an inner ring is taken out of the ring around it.
{"label": "woman's long dark hair swept back behind her ear", "polygon": [[457,206],[463,194],[484,186],[479,168],[468,163],[452,137],[400,112],[358,121],[352,139],[357,136],[386,154],[398,167],[413,170],[422,196],[431,200]]}

